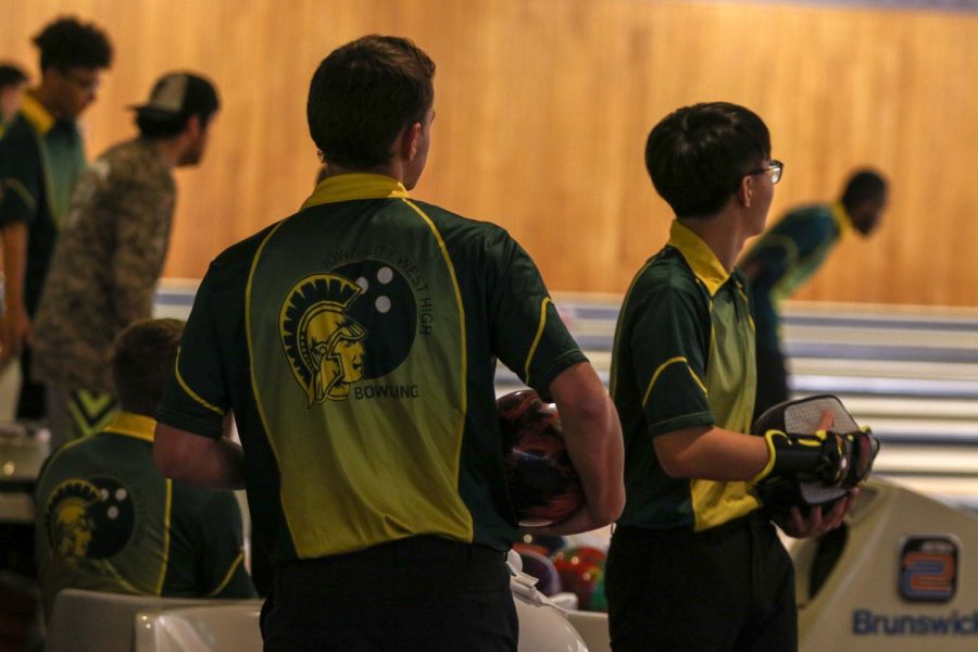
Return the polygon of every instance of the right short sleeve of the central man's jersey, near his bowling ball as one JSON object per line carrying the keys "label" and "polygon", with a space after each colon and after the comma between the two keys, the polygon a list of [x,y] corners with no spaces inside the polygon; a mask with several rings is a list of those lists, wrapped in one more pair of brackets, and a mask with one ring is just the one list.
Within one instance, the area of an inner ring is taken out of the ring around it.
{"label": "right short sleeve of the central man's jersey, near his bowling ball", "polygon": [[492,244],[489,288],[496,355],[542,397],[561,372],[587,358],[557,313],[537,266],[505,231]]}

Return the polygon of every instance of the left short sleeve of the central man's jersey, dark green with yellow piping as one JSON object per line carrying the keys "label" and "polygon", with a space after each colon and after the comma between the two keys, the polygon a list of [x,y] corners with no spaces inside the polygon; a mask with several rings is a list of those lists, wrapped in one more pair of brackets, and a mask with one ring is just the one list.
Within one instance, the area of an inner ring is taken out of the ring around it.
{"label": "left short sleeve of the central man's jersey, dark green with yellow piping", "polygon": [[174,375],[156,413],[160,423],[217,439],[229,408],[227,384],[221,364],[221,348],[212,314],[213,266],[200,284],[184,329]]}

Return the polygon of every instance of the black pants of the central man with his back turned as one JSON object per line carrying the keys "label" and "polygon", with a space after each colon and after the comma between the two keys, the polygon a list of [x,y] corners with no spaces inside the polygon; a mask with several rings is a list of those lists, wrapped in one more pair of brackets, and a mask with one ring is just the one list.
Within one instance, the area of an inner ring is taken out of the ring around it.
{"label": "black pants of the central man with his back turned", "polygon": [[505,553],[414,537],[278,569],[262,609],[266,652],[513,652]]}

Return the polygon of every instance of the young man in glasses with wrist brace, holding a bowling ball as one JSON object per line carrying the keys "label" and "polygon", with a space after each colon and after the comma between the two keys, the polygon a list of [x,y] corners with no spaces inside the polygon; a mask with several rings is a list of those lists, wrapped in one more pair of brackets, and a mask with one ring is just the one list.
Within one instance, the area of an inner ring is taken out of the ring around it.
{"label": "young man in glasses with wrist brace, holding a bowling ball", "polygon": [[[781,444],[795,440],[747,435],[754,327],[734,267],[764,229],[782,164],[770,158],[764,122],[725,102],[665,117],[649,135],[645,164],[676,220],[636,275],[615,334],[611,393],[627,503],[605,576],[612,645],[792,650],[794,572],[750,484],[785,473],[791,455]],[[849,462],[813,451],[802,461],[812,468]],[[851,502],[806,518],[795,509],[789,534],[837,527]]]}

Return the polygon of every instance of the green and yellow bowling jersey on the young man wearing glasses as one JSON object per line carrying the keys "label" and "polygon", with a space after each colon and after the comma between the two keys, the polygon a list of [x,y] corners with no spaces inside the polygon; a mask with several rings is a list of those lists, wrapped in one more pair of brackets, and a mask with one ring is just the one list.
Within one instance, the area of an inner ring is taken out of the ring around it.
{"label": "green and yellow bowling jersey on the young man wearing glasses", "polygon": [[692,426],[749,432],[754,327],[739,272],[728,274],[689,228],[639,271],[615,333],[611,394],[625,437],[619,524],[703,530],[757,507],[747,482],[672,478],[653,438]]}

